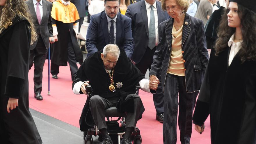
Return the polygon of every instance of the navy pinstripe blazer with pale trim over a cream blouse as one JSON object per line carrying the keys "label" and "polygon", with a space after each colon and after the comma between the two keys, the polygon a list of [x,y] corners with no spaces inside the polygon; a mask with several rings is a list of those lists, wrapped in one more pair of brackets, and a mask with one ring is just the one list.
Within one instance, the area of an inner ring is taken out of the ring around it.
{"label": "navy pinstripe blazer with pale trim over a cream blouse", "polygon": [[[150,75],[157,75],[161,70],[163,90],[172,51],[172,29],[174,19],[170,18],[159,24],[159,44],[154,53]],[[185,24],[186,23],[186,24]],[[193,93],[200,89],[209,56],[206,48],[204,24],[202,20],[186,13],[182,30],[182,53],[185,67],[186,91]]]}

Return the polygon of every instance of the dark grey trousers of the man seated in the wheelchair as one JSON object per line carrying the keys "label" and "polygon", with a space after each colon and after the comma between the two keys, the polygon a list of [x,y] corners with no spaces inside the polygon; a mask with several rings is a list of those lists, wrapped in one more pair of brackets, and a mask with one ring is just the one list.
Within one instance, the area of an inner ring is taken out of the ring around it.
{"label": "dark grey trousers of the man seated in the wheelchair", "polygon": [[[126,116],[126,126],[125,127],[135,127],[140,116],[140,109],[143,106],[141,98],[138,95],[133,95],[134,97],[134,113],[127,113]],[[94,95],[90,98],[89,107],[93,116],[93,120],[98,127],[98,129],[107,128],[105,121],[105,110],[116,106],[119,97],[112,99],[105,99],[99,95]]]}

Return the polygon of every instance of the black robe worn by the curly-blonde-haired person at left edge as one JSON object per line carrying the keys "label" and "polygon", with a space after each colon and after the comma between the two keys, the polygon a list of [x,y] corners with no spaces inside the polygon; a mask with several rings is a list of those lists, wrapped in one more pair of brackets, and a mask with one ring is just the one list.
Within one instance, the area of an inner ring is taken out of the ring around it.
{"label": "black robe worn by the curly-blonde-haired person at left edge", "polygon": [[[29,112],[29,48],[31,30],[25,18],[16,17],[0,34],[0,140],[1,143],[41,144]],[[7,112],[8,99],[19,106]]]}

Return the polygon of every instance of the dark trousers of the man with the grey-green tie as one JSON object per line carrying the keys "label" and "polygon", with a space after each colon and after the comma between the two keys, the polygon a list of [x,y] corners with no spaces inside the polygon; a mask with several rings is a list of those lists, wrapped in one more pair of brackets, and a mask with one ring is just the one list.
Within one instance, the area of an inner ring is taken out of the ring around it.
{"label": "dark trousers of the man with the grey-green tie", "polygon": [[[141,61],[136,64],[136,67],[143,73],[144,75],[147,72],[147,69],[151,69],[151,64],[153,63],[153,56],[156,51],[156,48],[150,49],[147,47],[145,54],[141,58]],[[162,92],[162,82],[161,82],[161,74],[159,71],[159,74],[157,75],[157,78],[160,81],[160,84],[158,85],[158,88],[156,90],[156,93],[153,94],[153,101],[156,108],[157,113],[164,112],[164,105],[163,105],[163,92]]]}

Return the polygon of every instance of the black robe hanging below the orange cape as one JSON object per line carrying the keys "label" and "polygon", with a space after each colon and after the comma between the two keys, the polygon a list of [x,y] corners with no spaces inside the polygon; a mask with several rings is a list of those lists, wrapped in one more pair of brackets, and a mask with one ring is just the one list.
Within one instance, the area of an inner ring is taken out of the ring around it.
{"label": "black robe hanging below the orange cape", "polygon": [[72,45],[76,55],[76,60],[81,64],[83,63],[83,54],[78,45],[76,33],[73,29],[74,23],[63,23],[53,19],[53,24],[56,24],[58,31],[58,41],[52,45],[51,62],[60,65],[67,66],[67,45],[69,35],[72,40]]}

